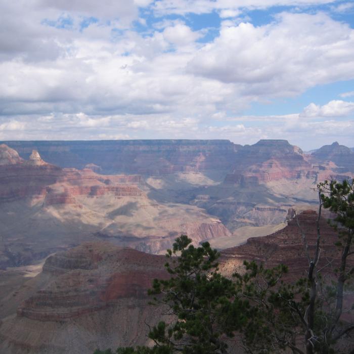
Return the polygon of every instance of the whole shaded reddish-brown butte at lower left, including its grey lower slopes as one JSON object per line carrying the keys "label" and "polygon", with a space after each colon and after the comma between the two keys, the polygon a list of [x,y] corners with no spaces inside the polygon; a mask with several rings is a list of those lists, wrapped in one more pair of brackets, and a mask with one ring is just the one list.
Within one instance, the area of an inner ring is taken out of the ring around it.
{"label": "whole shaded reddish-brown butte at lower left, including its grey lower slopes", "polygon": [[161,316],[148,305],[147,289],[154,278],[168,278],[164,263],[164,256],[105,242],[50,256],[31,280],[41,289],[0,324],[0,351],[80,353],[145,344],[144,321]]}

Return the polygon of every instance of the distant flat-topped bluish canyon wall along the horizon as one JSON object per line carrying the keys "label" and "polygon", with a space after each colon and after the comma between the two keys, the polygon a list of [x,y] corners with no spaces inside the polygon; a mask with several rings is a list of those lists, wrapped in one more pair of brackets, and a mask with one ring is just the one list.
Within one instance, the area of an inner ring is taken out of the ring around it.
{"label": "distant flat-topped bluish canyon wall along the horizon", "polygon": [[[104,173],[148,175],[180,171],[229,169],[241,147],[228,140],[125,140],[77,142],[7,142],[28,158],[35,149],[61,167],[99,166]],[[94,167],[95,168],[95,167]]]}

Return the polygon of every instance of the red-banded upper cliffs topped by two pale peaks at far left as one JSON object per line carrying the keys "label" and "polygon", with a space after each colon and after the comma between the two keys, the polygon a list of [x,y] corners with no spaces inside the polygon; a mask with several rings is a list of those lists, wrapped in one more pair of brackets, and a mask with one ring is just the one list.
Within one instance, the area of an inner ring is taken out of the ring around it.
{"label": "red-banded upper cliffs topped by two pale peaks at far left", "polygon": [[[36,150],[23,160],[0,146],[0,203],[43,197],[45,205],[75,204],[75,196],[142,196],[139,175],[98,175],[91,169],[60,168],[43,161]],[[129,185],[131,184],[131,185]]]}

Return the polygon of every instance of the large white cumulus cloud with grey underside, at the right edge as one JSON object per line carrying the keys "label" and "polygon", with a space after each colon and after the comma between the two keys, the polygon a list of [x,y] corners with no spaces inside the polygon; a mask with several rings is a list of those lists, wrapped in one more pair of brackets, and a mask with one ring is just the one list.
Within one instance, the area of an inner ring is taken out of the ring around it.
{"label": "large white cumulus cloud with grey underside, at the right edge", "polygon": [[245,95],[291,96],[354,78],[354,30],[324,14],[283,13],[263,26],[224,26],[189,72],[237,83]]}

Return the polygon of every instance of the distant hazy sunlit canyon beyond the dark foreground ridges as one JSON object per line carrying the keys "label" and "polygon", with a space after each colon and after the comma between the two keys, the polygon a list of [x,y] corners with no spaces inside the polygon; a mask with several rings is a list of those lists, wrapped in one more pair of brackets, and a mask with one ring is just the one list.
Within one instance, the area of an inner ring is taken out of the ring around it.
{"label": "distant hazy sunlit canyon beyond the dark foreground ridges", "polygon": [[317,183],[351,178],[352,156],[286,140],[1,142],[0,269],[83,241],[149,253],[180,234],[237,245],[274,231],[289,208],[316,209]]}

